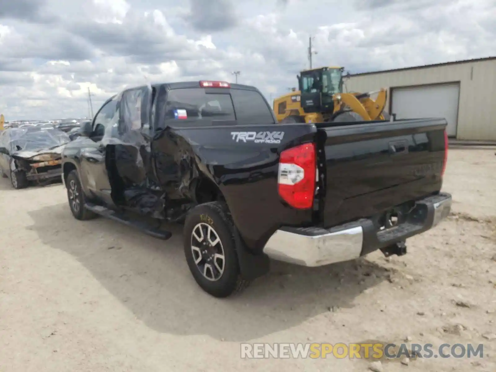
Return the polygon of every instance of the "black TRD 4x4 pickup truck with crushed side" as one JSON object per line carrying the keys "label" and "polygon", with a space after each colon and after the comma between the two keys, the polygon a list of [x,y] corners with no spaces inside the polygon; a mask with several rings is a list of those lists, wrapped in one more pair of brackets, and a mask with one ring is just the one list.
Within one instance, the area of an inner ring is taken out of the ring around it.
{"label": "black TRD 4x4 pickup truck with crushed side", "polygon": [[[164,83],[110,98],[62,153],[75,218],[157,238],[184,222],[198,285],[227,297],[269,270],[352,260],[449,214],[444,119],[278,124],[253,87]],[[147,218],[142,218],[144,215]],[[155,226],[151,222],[155,222]]]}

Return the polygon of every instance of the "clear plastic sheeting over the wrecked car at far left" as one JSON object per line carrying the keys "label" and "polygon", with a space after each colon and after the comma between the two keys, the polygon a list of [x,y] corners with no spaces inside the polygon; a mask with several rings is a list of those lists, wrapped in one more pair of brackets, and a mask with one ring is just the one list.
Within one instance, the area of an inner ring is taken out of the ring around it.
{"label": "clear plastic sheeting over the wrecked car at far left", "polygon": [[54,127],[22,127],[11,130],[10,149],[13,154],[22,157],[52,150],[70,141],[66,133]]}

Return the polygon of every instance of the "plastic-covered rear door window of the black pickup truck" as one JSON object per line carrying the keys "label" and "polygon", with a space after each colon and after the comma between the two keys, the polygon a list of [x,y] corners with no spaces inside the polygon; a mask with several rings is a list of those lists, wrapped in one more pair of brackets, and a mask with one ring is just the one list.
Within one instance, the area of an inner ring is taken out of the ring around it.
{"label": "plastic-covered rear door window of the black pickup truck", "polygon": [[130,89],[121,99],[121,119],[127,129],[139,130],[147,122],[147,87]]}

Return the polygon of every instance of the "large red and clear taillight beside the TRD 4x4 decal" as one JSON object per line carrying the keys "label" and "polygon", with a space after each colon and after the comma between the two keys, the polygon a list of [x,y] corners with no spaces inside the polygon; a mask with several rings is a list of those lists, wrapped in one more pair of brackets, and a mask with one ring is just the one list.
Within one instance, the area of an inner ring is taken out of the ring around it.
{"label": "large red and clear taillight beside the TRD 4x4 decal", "polygon": [[305,143],[281,152],[279,195],[292,207],[308,209],[315,194],[315,145]]}

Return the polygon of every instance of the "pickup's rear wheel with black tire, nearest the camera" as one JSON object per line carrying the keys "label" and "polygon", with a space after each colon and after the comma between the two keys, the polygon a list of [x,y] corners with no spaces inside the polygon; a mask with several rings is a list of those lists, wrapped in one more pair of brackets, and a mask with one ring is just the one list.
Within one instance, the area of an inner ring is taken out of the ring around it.
{"label": "pickup's rear wheel with black tire, nearest the camera", "polygon": [[[202,236],[205,237],[206,231],[210,228],[213,230],[213,235],[210,233],[210,242],[214,239],[215,243],[217,239],[214,237],[217,236],[220,240],[220,245],[217,243],[214,246],[209,244],[203,246],[202,243],[208,242],[193,237],[193,232],[195,232],[196,236],[199,236],[198,229],[202,231]],[[205,292],[217,298],[225,298],[248,287],[249,281],[243,279],[240,275],[234,240],[234,224],[231,214],[224,203],[213,201],[194,207],[186,217],[183,240],[189,270],[196,283]],[[200,246],[197,248],[202,250],[192,248],[193,244],[197,244]],[[219,270],[221,265],[218,260],[208,261],[208,258],[212,259],[213,252],[216,252],[217,255],[220,254],[219,249],[222,250],[224,256],[223,267],[221,267],[222,272]],[[215,266],[215,262],[218,263],[217,266]],[[206,265],[210,265],[210,269],[207,270]],[[207,275],[204,275],[204,273],[207,273]],[[216,274],[218,274],[217,278]],[[210,279],[207,278],[208,276],[210,276]]]}

